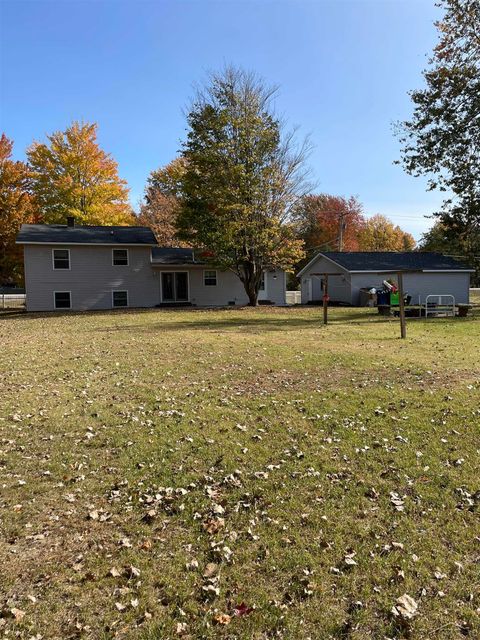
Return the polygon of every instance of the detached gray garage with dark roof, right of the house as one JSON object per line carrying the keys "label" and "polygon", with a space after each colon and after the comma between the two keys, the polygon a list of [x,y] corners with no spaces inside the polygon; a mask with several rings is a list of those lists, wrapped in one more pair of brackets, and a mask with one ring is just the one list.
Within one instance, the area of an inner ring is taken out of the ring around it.
{"label": "detached gray garage with dark roof, right of the house", "polygon": [[359,306],[360,289],[382,288],[390,270],[394,280],[397,271],[415,271],[403,276],[412,304],[425,304],[428,295],[452,295],[457,304],[469,303],[474,270],[441,253],[328,251],[317,253],[298,274],[302,304],[322,301],[322,274],[328,273],[335,274],[328,278],[330,302]]}

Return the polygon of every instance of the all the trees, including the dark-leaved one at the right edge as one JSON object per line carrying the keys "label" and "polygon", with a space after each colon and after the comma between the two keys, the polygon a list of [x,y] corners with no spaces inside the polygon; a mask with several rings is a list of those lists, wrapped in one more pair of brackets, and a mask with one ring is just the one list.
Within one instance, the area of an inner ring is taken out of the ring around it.
{"label": "all the trees, including the dark-leaved one at the right edge", "polygon": [[[428,174],[447,198],[420,248],[480,253],[480,0],[443,0],[439,44],[411,94],[414,112],[398,126],[404,168]],[[145,224],[163,245],[199,248],[237,274],[256,304],[265,269],[294,270],[316,250],[402,251],[412,236],[359,200],[315,193],[307,140],[275,112],[276,88],[227,67],[198,90],[180,154],[151,172],[139,211],[97,125],[74,122],[12,160],[0,139],[0,282],[22,277],[15,236],[24,222]]]}

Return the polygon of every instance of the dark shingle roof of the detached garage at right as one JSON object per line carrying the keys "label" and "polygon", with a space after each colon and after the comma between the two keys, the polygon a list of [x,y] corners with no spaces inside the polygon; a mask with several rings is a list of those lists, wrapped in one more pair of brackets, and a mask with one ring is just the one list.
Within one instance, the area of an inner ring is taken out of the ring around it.
{"label": "dark shingle roof of the detached garage at right", "polygon": [[330,258],[348,271],[387,271],[388,269],[418,269],[419,271],[461,271],[467,265],[441,253],[424,251],[324,251]]}

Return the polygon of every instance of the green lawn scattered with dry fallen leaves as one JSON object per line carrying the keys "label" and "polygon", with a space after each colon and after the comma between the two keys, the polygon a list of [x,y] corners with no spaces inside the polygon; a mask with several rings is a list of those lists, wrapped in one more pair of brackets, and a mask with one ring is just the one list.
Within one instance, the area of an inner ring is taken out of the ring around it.
{"label": "green lawn scattered with dry fallen leaves", "polygon": [[0,635],[479,638],[480,321],[398,335],[358,309],[0,319]]}

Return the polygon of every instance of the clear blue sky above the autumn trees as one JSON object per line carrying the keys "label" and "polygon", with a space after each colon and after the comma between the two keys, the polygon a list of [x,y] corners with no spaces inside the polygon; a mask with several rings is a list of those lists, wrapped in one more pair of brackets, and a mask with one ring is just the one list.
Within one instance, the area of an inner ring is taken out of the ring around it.
{"label": "clear blue sky above the autumn trees", "polygon": [[280,86],[278,111],[309,133],[317,190],[355,195],[417,238],[441,195],[393,165],[392,124],[436,41],[434,0],[0,0],[0,128],[32,140],[95,121],[131,201],[185,135],[209,70],[232,63]]}

